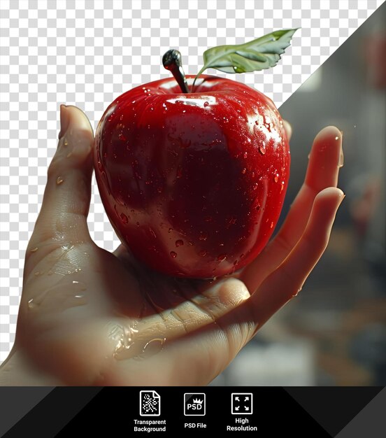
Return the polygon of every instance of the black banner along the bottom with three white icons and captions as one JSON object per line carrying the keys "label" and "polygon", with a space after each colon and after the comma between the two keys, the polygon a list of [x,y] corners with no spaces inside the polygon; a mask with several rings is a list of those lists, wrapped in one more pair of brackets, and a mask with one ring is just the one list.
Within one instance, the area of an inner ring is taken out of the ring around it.
{"label": "black banner along the bottom with three white icons and captions", "polygon": [[[386,389],[0,388],[0,436],[385,437]],[[258,434],[258,435],[256,435]]]}

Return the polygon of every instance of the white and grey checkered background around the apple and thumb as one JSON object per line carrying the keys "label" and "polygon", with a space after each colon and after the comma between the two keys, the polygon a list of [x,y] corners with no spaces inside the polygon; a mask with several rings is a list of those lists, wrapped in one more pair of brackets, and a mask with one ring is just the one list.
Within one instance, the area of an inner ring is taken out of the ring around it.
{"label": "white and grey checkered background around the apple and thumb", "polygon": [[[169,48],[179,48],[185,73],[196,73],[206,48],[300,27],[274,69],[228,75],[280,106],[381,3],[1,0],[0,362],[15,339],[24,253],[57,145],[59,104],[79,106],[95,128],[119,94],[169,76],[161,65]],[[113,250],[119,242],[92,184],[90,232]]]}

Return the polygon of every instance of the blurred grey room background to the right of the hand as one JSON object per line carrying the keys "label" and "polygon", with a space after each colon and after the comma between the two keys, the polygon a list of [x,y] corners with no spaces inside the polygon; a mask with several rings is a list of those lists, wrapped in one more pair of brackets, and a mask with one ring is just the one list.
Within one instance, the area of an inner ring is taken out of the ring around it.
{"label": "blurred grey room background to the right of the hand", "polygon": [[299,296],[212,384],[384,386],[386,3],[279,110],[293,129],[281,221],[303,183],[313,138],[327,125],[343,132],[346,197]]}

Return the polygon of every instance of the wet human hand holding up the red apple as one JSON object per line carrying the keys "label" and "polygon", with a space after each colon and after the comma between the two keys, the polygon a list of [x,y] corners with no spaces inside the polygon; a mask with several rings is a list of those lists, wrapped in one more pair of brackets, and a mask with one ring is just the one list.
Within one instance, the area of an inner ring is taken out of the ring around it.
{"label": "wet human hand holding up the red apple", "polygon": [[[87,228],[93,133],[62,106],[57,153],[27,247],[15,345],[0,383],[204,385],[301,290],[329,240],[341,132],[317,134],[306,180],[275,239],[248,267],[213,281],[151,271]],[[290,126],[287,125],[290,135]]]}

